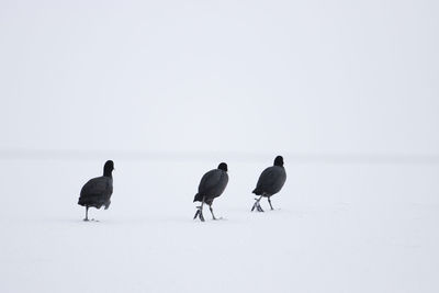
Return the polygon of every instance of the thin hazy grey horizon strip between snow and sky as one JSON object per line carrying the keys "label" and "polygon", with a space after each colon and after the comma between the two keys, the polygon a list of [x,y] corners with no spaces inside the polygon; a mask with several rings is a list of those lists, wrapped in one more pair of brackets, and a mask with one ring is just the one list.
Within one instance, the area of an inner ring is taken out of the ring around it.
{"label": "thin hazy grey horizon strip between snow and sky", "polygon": [[2,160],[90,160],[113,157],[125,160],[206,160],[228,158],[240,161],[273,159],[282,155],[293,162],[326,164],[439,164],[439,154],[398,154],[398,153],[302,153],[302,151],[226,151],[226,150],[86,150],[86,149],[0,149]]}

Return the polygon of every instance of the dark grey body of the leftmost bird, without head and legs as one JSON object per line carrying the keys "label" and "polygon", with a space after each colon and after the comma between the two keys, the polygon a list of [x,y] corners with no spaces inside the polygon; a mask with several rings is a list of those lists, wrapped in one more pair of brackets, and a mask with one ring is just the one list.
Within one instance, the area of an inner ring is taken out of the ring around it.
{"label": "dark grey body of the leftmost bird, without head and legs", "polygon": [[81,189],[78,204],[100,209],[110,206],[110,198],[113,193],[113,179],[110,177],[98,177],[90,179]]}

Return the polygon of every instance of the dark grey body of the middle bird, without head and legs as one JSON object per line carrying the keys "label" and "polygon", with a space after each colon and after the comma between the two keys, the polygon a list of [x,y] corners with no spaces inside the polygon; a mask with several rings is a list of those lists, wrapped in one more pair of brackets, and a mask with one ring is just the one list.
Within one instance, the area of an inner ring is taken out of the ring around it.
{"label": "dark grey body of the middle bird, without head and legs", "polygon": [[214,169],[206,172],[201,179],[199,193],[195,194],[194,201],[213,200],[219,196],[226,189],[228,183],[227,172]]}

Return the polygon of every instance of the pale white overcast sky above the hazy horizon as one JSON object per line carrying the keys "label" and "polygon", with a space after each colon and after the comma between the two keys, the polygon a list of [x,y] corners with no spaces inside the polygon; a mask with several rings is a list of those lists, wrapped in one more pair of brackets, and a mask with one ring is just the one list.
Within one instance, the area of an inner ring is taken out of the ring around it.
{"label": "pale white overcast sky above the hazy horizon", "polygon": [[438,1],[0,1],[0,148],[439,153]]}

